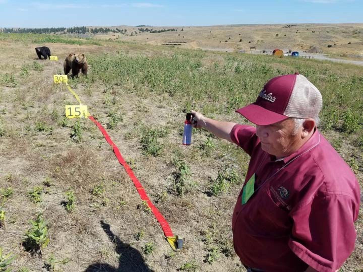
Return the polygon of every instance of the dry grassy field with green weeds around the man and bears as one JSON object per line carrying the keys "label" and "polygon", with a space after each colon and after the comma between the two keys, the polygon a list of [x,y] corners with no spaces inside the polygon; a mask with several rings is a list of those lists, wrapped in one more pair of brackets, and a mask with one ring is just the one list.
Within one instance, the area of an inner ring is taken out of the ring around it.
{"label": "dry grassy field with green weeds around the man and bears", "polygon": [[[246,34],[247,28],[259,30]],[[171,33],[114,41],[0,34],[0,209],[5,211],[0,247],[4,255],[15,254],[8,267],[17,272],[245,271],[233,251],[231,217],[249,157],[206,131],[195,131],[191,146],[181,145],[185,112],[193,108],[245,123],[234,109],[253,102],[269,78],[299,71],[321,90],[321,131],[362,188],[363,67],[187,48],[246,49],[248,40],[273,48],[285,44],[284,33],[295,37],[295,48],[320,31],[324,38],[311,42],[323,48],[335,35],[339,45],[333,49],[340,54],[348,41],[362,50],[362,33],[351,34],[362,28],[178,28],[172,35],[184,35],[184,49],[155,46],[170,40]],[[201,32],[203,41],[196,41]],[[264,32],[272,37],[262,38]],[[34,48],[40,45],[59,60],[37,59]],[[70,79],[70,86],[184,239],[180,252],[171,250],[97,127],[88,119],[65,118],[65,105],[77,101],[64,85],[53,83],[53,74],[62,73],[64,58],[73,52],[85,53],[89,75]],[[356,249],[340,271],[363,271],[362,212],[361,203]],[[25,236],[38,213],[49,238],[41,254],[27,251]]]}

